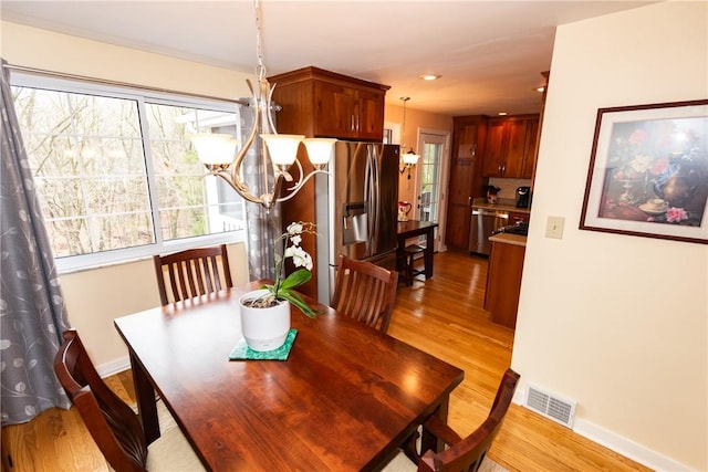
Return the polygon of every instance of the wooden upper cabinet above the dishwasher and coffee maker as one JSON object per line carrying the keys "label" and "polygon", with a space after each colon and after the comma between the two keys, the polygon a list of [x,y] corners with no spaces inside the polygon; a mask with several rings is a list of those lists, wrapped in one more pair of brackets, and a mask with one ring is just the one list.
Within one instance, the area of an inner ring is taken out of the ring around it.
{"label": "wooden upper cabinet above the dishwasher and coffee maker", "polygon": [[485,177],[530,179],[535,166],[539,115],[490,118],[485,148]]}

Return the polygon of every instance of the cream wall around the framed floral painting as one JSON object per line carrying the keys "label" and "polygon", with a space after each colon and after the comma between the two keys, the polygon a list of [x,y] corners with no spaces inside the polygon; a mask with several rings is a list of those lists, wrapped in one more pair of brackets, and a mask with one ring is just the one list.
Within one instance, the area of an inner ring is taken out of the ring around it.
{"label": "cream wall around the framed floral painting", "polygon": [[706,2],[558,30],[512,365],[520,390],[577,400],[576,431],[659,470],[708,470],[708,245],[577,228],[597,108],[707,97]]}

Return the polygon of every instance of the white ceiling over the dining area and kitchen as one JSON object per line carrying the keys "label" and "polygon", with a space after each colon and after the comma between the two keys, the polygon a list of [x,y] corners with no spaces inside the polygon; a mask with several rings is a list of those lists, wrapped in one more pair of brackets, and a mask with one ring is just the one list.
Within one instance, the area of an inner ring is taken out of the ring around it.
{"label": "white ceiling over the dining area and kitchen", "polygon": [[[306,65],[391,86],[445,115],[538,113],[555,27],[654,1],[261,0],[268,75]],[[3,21],[251,73],[256,15],[235,1],[12,1]],[[22,64],[18,64],[22,65]],[[421,74],[438,74],[426,82]]]}

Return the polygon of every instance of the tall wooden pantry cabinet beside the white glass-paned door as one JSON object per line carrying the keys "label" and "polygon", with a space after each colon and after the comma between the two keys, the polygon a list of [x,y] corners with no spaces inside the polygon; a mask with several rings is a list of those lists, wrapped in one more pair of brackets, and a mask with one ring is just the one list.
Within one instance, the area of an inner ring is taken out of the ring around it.
{"label": "tall wooden pantry cabinet beside the white glass-paned door", "polygon": [[486,134],[486,116],[454,118],[445,233],[445,243],[450,249],[468,250],[472,198],[482,195],[481,162]]}

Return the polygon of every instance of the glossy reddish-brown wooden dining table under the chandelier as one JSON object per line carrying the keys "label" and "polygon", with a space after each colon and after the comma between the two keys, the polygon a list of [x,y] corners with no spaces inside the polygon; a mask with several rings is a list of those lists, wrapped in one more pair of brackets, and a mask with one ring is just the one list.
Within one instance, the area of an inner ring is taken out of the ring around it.
{"label": "glossy reddish-brown wooden dining table under the chandelier", "polygon": [[292,308],[287,360],[229,360],[238,298],[258,286],[115,319],[148,442],[156,392],[212,471],[378,470],[426,418],[447,420],[462,370],[311,298],[322,314]]}

